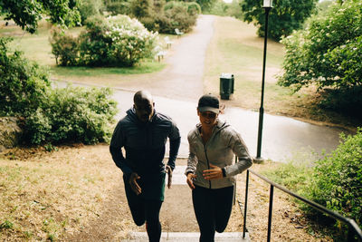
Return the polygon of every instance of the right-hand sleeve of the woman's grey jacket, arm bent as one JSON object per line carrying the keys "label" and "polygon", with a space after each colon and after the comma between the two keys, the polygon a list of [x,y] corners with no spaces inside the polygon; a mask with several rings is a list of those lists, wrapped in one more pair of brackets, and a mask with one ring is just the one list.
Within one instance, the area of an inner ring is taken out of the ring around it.
{"label": "right-hand sleeve of the woman's grey jacket, arm bent", "polygon": [[252,166],[252,157],[249,154],[249,150],[246,147],[241,135],[237,131],[231,131],[229,146],[233,150],[233,153],[237,156],[238,162],[224,168],[226,177],[231,177],[242,173],[245,169],[248,169]]}

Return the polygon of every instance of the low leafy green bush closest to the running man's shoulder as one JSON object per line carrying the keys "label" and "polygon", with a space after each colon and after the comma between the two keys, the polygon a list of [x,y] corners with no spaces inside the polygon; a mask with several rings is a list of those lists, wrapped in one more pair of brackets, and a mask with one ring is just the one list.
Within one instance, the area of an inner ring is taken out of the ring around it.
{"label": "low leafy green bush closest to the running man's shoulder", "polygon": [[24,139],[33,144],[109,141],[117,103],[110,89],[67,86],[49,91],[43,106],[25,113]]}

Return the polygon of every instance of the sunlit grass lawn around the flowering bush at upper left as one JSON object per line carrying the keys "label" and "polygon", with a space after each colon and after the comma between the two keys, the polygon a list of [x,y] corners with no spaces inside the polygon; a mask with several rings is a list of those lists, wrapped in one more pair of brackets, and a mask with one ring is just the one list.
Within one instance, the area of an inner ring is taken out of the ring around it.
{"label": "sunlit grass lawn around the flowering bush at upper left", "polygon": [[[3,23],[2,23],[3,24]],[[144,60],[142,63],[131,68],[91,68],[91,67],[62,67],[57,66],[54,56],[52,55],[52,46],[49,43],[51,24],[41,22],[38,33],[28,34],[18,26],[10,25],[0,29],[0,36],[11,36],[14,41],[11,43],[13,50],[24,52],[24,56],[41,65],[48,66],[51,70],[52,78],[77,80],[96,77],[99,82],[105,80],[119,79],[121,82],[124,78],[119,75],[135,75],[143,73],[155,73],[161,71],[166,64],[158,63],[156,60]],[[80,34],[82,27],[76,27],[70,30],[71,34]],[[159,37],[161,45],[165,45],[163,35]]]}

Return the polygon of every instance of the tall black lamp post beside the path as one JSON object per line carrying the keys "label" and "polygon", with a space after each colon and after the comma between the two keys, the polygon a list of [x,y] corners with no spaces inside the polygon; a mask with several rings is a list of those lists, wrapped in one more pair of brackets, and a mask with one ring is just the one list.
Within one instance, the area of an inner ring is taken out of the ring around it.
{"label": "tall black lamp post beside the path", "polygon": [[264,33],[264,54],[262,60],[262,98],[261,98],[261,107],[259,109],[259,129],[258,129],[258,146],[256,151],[256,158],[254,159],[256,162],[262,162],[262,121],[264,116],[264,83],[265,83],[265,61],[266,61],[266,46],[268,40],[268,19],[269,19],[269,11],[272,8],[272,0],[263,0],[262,8],[265,10],[265,33]]}

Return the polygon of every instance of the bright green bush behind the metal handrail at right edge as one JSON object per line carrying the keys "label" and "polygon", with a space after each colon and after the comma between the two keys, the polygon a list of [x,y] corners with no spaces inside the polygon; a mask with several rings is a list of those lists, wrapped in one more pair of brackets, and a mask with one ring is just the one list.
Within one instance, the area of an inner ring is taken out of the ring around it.
{"label": "bright green bush behind the metal handrail at right edge", "polygon": [[316,162],[307,197],[362,223],[362,129],[341,134],[343,141],[328,157]]}

